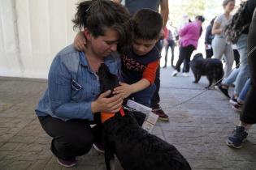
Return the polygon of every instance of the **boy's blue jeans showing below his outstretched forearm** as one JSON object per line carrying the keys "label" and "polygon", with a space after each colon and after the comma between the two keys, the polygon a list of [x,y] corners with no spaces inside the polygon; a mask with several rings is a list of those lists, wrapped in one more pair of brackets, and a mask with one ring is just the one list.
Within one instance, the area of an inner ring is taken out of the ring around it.
{"label": "boy's blue jeans showing below his outstretched forearm", "polygon": [[150,107],[151,98],[154,95],[155,89],[156,86],[153,84],[142,91],[138,91],[137,93],[133,93],[132,95],[128,96],[128,100],[134,100],[139,104]]}

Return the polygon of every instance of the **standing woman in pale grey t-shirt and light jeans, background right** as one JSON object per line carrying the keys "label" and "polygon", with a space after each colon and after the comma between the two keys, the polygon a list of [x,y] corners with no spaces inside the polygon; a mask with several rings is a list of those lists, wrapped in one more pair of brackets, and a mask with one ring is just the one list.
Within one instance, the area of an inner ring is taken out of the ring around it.
{"label": "standing woman in pale grey t-shirt and light jeans, background right", "polygon": [[232,65],[234,62],[234,53],[232,50],[232,46],[228,45],[228,43],[223,38],[223,28],[228,24],[229,20],[232,19],[231,12],[235,7],[235,0],[224,0],[223,8],[224,13],[219,15],[215,19],[215,23],[212,27],[212,34],[215,35],[215,38],[212,40],[212,49],[215,58],[220,59],[223,54],[226,61],[225,66],[225,78],[231,73]]}

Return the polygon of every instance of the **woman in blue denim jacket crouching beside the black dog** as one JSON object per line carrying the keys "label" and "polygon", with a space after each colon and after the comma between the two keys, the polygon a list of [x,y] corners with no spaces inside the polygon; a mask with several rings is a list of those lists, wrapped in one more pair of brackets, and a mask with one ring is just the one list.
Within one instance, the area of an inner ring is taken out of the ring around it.
{"label": "woman in blue denim jacket crouching beside the black dog", "polygon": [[[99,95],[98,68],[101,63],[119,74],[119,58],[112,52],[124,42],[123,23],[128,11],[111,1],[80,2],[73,23],[84,30],[86,47],[72,45],[61,50],[50,66],[48,88],[36,109],[41,126],[53,140],[51,151],[59,164],[72,167],[76,156],[85,155],[93,143],[101,142],[101,129],[90,124],[98,112],[116,113],[123,103],[120,95]],[[96,120],[94,120],[96,121]]]}

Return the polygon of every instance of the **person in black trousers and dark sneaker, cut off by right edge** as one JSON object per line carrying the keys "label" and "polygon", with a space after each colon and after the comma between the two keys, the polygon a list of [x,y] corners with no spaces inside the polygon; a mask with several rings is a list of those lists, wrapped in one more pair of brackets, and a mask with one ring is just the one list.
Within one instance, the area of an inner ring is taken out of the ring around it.
{"label": "person in black trousers and dark sneaker, cut off by right edge", "polygon": [[235,130],[232,132],[232,135],[228,137],[227,144],[229,147],[241,148],[242,143],[245,142],[245,139],[248,136],[248,131],[253,124],[256,123],[256,1],[249,0],[249,5],[246,6],[246,17],[245,19],[250,20],[251,23],[249,26],[248,33],[248,64],[249,64],[249,74],[251,86],[249,93],[246,96],[244,108],[240,115],[240,122],[236,125]]}

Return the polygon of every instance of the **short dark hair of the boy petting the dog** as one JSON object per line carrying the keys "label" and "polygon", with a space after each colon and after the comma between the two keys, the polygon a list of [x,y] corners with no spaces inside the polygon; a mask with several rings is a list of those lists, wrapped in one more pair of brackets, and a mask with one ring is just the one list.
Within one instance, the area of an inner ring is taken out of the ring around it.
{"label": "short dark hair of the boy petting the dog", "polygon": [[133,15],[132,39],[154,40],[158,39],[163,28],[163,18],[156,11],[141,9]]}

